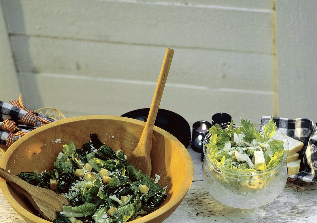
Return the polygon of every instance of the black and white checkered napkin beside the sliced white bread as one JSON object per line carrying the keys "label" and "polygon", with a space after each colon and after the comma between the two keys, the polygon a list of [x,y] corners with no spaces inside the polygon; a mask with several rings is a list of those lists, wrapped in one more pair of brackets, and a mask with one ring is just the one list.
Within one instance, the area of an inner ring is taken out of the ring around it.
{"label": "black and white checkered napkin beside the sliced white bread", "polygon": [[[262,116],[262,123],[266,124],[272,116]],[[274,117],[277,129],[282,133],[304,143],[303,149],[298,152],[301,162],[301,171],[288,177],[301,181],[317,181],[317,128],[314,122],[306,118],[286,119]]]}

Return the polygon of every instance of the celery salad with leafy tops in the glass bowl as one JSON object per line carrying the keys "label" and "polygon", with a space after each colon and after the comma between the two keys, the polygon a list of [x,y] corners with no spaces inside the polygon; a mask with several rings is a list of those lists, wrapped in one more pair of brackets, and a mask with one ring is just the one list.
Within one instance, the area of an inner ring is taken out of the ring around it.
{"label": "celery salad with leafy tops in the glass bowl", "polygon": [[211,137],[206,145],[207,156],[220,170],[217,177],[222,183],[233,189],[261,189],[268,177],[259,179],[259,174],[265,177],[268,169],[282,162],[284,142],[272,139],[276,131],[273,119],[263,126],[263,133],[258,132],[250,121],[241,120],[241,127],[233,123],[231,120],[226,129],[220,125],[209,129]]}

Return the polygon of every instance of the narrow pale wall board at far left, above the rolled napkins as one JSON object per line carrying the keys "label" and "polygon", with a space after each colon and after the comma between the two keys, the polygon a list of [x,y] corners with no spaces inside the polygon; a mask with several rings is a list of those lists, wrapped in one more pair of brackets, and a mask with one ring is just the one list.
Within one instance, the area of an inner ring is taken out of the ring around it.
{"label": "narrow pale wall board at far left, above the rolled napkins", "polygon": [[0,1],[0,100],[8,102],[19,97],[20,86],[16,74],[14,58],[11,50],[11,42],[8,35],[7,24],[3,13],[3,5]]}

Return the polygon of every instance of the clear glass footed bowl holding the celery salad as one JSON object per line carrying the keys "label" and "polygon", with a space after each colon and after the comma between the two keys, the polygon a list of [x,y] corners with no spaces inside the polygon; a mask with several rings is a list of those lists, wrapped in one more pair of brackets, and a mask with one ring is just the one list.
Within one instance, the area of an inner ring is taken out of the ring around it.
{"label": "clear glass footed bowl holding the celery salad", "polygon": [[[252,124],[257,131],[263,133],[263,123]],[[225,123],[222,128],[226,128],[228,125],[229,123]],[[241,124],[234,124],[234,127],[241,127]],[[203,142],[205,158],[202,172],[206,189],[217,201],[233,208],[251,209],[262,207],[280,195],[288,177],[286,158],[289,145],[283,133],[277,130],[271,138],[284,142],[283,160],[265,172],[258,170],[252,174],[244,171],[233,172],[230,171],[232,169],[213,162],[209,158],[210,154],[206,147],[210,137],[211,133],[208,133]]]}

